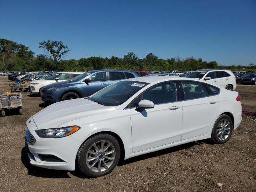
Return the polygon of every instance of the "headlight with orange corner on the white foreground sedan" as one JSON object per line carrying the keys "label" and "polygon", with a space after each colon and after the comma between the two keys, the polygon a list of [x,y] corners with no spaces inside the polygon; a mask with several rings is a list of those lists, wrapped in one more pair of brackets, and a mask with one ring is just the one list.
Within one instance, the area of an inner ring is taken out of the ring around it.
{"label": "headlight with orange corner on the white foreground sedan", "polygon": [[73,134],[78,131],[80,127],[78,126],[70,126],[70,127],[62,127],[62,128],[52,128],[52,129],[42,129],[36,130],[36,134],[39,137],[47,137],[47,138],[60,138],[66,137],[68,135]]}

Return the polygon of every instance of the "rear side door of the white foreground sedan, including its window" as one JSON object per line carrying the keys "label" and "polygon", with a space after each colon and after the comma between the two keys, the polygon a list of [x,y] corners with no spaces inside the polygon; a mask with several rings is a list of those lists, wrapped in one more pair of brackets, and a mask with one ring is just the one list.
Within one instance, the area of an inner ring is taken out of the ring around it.
{"label": "rear side door of the white foreground sedan, including its window", "polygon": [[207,133],[217,119],[219,101],[204,83],[181,81],[184,98],[182,99],[183,122],[182,140]]}

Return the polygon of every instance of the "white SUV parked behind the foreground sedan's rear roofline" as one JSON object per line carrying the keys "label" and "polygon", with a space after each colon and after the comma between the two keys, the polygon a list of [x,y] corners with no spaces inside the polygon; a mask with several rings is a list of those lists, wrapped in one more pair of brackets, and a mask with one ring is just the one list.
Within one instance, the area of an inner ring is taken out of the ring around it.
{"label": "white SUV parked behind the foreground sedan's rear roofline", "polygon": [[205,80],[231,91],[236,89],[236,77],[228,70],[198,70],[186,77]]}

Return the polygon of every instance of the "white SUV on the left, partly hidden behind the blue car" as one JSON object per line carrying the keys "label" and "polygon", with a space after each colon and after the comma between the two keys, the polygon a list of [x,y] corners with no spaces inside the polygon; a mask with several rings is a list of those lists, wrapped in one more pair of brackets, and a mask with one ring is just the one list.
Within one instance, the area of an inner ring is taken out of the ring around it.
{"label": "white SUV on the left, partly hidden behind the blue car", "polygon": [[30,93],[39,94],[41,96],[41,89],[49,84],[70,80],[83,72],[58,72],[48,75],[44,79],[34,80],[30,82]]}

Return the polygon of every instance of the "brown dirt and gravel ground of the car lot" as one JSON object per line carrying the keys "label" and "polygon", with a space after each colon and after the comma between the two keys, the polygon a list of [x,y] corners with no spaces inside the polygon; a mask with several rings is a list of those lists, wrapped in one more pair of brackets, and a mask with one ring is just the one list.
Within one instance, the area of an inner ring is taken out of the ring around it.
{"label": "brown dirt and gravel ground of the car lot", "polygon": [[[0,77],[0,93],[10,90]],[[256,111],[256,86],[237,86],[243,110]],[[24,148],[26,120],[47,105],[22,93],[23,115],[0,117],[0,191],[256,191],[256,119],[243,115],[226,144],[207,140],[153,152],[124,161],[101,178],[78,171],[31,166]],[[221,183],[222,186],[218,186]]]}

